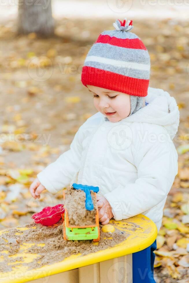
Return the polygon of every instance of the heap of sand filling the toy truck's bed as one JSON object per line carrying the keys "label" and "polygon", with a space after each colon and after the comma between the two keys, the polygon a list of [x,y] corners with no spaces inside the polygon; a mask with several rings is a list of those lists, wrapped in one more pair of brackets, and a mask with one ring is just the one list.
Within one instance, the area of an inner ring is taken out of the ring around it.
{"label": "heap of sand filling the toy truck's bed", "polygon": [[69,224],[76,226],[95,225],[97,213],[97,201],[95,193],[90,191],[94,209],[88,211],[85,208],[86,195],[82,190],[76,190],[71,187],[65,191],[64,207],[67,209]]}

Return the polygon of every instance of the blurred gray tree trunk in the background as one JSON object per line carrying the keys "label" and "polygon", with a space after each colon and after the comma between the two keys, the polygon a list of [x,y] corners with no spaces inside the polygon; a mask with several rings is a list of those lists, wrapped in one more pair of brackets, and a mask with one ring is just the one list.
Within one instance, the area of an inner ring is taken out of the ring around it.
{"label": "blurred gray tree trunk in the background", "polygon": [[41,37],[53,36],[51,0],[18,1],[18,34],[31,32]]}

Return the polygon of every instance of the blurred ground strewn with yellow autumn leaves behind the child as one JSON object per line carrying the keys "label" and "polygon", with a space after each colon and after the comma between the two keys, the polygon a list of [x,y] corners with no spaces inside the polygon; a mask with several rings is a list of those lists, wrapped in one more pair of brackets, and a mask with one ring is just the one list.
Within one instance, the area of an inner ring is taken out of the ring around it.
{"label": "blurred ground strewn with yellow autumn leaves behind the child", "polygon": [[[29,223],[34,212],[62,203],[62,192],[55,196],[45,192],[33,200],[29,185],[69,149],[79,126],[97,112],[80,81],[82,64],[99,33],[125,17],[83,20],[67,12],[67,17],[55,18],[55,37],[41,40],[34,33],[17,36],[16,17],[9,11],[0,25],[0,230]],[[132,32],[151,56],[149,86],[174,96],[181,117],[174,139],[180,152],[179,173],[157,238],[158,283],[189,282],[189,151],[185,148],[184,153],[181,147],[189,141],[189,22],[184,15],[133,19]]]}

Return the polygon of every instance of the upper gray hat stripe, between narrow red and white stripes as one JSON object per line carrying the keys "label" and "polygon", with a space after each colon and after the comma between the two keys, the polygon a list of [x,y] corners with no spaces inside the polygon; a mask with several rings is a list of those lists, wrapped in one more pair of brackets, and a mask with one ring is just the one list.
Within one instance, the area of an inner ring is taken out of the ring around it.
{"label": "upper gray hat stripe, between narrow red and white stripes", "polygon": [[150,64],[150,56],[147,50],[130,49],[108,43],[93,44],[87,56],[99,56],[114,60],[120,60],[121,58],[121,61]]}

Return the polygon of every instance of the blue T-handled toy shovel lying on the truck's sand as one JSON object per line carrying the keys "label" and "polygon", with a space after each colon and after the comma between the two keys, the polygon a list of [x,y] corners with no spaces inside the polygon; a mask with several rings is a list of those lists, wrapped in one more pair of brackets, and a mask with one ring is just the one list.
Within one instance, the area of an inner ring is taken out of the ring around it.
{"label": "blue T-handled toy shovel lying on the truck's sand", "polygon": [[73,183],[72,186],[76,190],[82,190],[82,191],[85,192],[85,194],[86,194],[85,208],[87,210],[93,210],[94,205],[93,205],[93,202],[92,202],[92,197],[91,197],[91,194],[90,194],[90,190],[94,191],[95,193],[98,193],[99,187],[93,187],[93,186],[76,184],[76,183]]}

